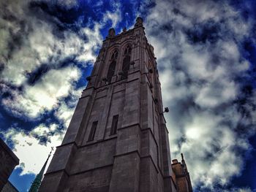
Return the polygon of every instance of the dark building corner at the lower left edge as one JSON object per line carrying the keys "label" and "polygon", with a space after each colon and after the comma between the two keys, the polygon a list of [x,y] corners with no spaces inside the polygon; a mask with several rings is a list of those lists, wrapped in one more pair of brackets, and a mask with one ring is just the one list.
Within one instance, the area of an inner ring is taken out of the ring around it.
{"label": "dark building corner at the lower left edge", "polygon": [[18,157],[0,138],[0,191],[6,191],[8,188],[12,188],[13,185],[8,181],[8,178],[12,174],[12,170],[18,164]]}

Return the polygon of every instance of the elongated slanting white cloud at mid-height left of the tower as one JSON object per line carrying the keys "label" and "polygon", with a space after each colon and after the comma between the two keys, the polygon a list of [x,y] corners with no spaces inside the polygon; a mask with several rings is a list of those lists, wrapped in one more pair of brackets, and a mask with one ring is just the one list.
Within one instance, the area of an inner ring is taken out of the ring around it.
{"label": "elongated slanting white cloud at mid-height left of the tower", "polygon": [[22,93],[12,91],[12,98],[2,104],[18,116],[37,118],[45,110],[52,110],[59,99],[70,94],[72,83],[78,80],[80,71],[76,67],[51,70],[34,86],[26,85]]}

